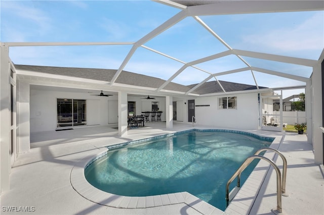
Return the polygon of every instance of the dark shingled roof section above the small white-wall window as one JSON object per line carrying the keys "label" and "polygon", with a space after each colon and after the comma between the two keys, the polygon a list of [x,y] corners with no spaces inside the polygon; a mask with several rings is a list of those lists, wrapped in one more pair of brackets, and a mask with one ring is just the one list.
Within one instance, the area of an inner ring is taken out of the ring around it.
{"label": "dark shingled roof section above the small white-wall window", "polygon": [[[239,84],[234,82],[228,82],[228,81],[219,81],[219,83],[222,85],[224,90],[226,92],[234,92],[234,91],[244,91],[244,90],[254,90],[257,89],[255,85],[249,85],[249,84]],[[196,86],[197,84],[189,85],[188,87],[192,88]],[[259,89],[264,89],[267,87],[260,87]],[[208,94],[208,93],[216,93],[216,92],[224,92],[221,88],[221,86],[216,81],[209,81],[205,82],[201,86],[199,86],[197,89],[193,90],[192,93],[196,94]]]}

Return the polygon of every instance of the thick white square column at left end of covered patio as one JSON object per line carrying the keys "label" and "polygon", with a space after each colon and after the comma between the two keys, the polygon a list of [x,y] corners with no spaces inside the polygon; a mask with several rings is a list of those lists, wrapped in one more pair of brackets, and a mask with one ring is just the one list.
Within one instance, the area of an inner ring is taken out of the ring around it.
{"label": "thick white square column at left end of covered patio", "polygon": [[30,151],[30,85],[18,83],[19,153]]}

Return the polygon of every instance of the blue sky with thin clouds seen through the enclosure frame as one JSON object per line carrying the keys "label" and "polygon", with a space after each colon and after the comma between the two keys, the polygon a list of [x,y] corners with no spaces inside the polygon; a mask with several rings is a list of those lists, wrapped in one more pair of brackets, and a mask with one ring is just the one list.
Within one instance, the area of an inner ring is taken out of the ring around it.
{"label": "blue sky with thin clouds seen through the enclosure frame", "polygon": [[[135,42],[180,12],[152,1],[1,1],[2,42]],[[234,49],[318,60],[324,47],[323,11],[200,16]],[[144,45],[183,62],[227,50],[187,17]],[[118,69],[131,45],[11,47],[15,64]],[[252,66],[309,77],[311,68],[244,59]],[[167,80],[182,63],[139,47],[124,70]],[[211,73],[246,67],[235,56],[196,65]],[[173,81],[199,83],[209,74],[187,68]],[[303,85],[255,72],[258,85]],[[217,77],[255,84],[250,71]]]}

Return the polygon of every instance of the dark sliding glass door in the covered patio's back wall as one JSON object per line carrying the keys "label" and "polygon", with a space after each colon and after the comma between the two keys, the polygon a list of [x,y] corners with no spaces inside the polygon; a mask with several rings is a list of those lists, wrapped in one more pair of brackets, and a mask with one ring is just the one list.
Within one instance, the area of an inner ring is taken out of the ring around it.
{"label": "dark sliding glass door in the covered patio's back wall", "polygon": [[87,125],[86,100],[57,99],[57,127]]}

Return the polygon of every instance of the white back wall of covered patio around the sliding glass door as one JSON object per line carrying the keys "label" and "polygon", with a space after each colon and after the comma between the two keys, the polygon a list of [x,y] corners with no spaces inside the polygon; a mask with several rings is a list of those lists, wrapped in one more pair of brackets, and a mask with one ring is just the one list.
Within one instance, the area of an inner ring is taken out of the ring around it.
{"label": "white back wall of covered patio around the sliding glass door", "polygon": [[[22,83],[27,84],[28,83]],[[36,89],[35,89],[36,88]],[[93,91],[93,90],[91,90]],[[87,126],[107,125],[109,119],[118,117],[118,110],[109,102],[117,104],[117,96],[92,96],[90,93],[77,93],[60,90],[46,90],[46,87],[33,87],[30,89],[30,132],[53,131],[57,128],[57,98],[85,99],[87,103]],[[141,99],[128,96],[128,101],[136,102],[136,115],[143,111],[150,111],[151,101],[158,102],[159,110],[164,112],[161,121],[166,121],[166,101],[164,98],[154,100]],[[20,110],[21,113],[28,110]],[[117,123],[117,121],[112,121]],[[110,123],[111,124],[111,123]]]}

